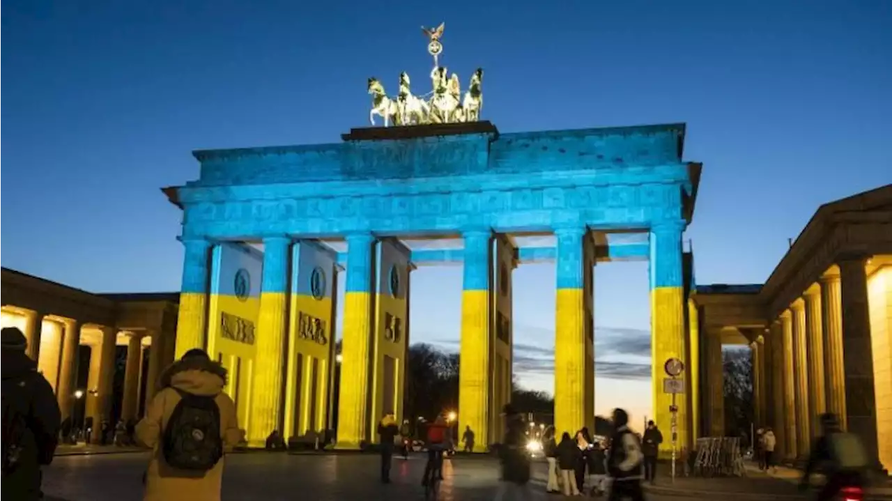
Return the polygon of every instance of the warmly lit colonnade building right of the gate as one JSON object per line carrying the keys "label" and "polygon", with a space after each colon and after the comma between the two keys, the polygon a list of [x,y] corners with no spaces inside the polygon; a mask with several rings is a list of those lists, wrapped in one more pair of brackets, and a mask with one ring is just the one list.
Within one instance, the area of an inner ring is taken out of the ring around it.
{"label": "warmly lit colonnade building right of the gate", "polygon": [[749,344],[756,425],[805,459],[831,412],[892,467],[892,185],[822,205],[762,285],[690,297],[703,368],[701,422],[724,432],[723,344]]}

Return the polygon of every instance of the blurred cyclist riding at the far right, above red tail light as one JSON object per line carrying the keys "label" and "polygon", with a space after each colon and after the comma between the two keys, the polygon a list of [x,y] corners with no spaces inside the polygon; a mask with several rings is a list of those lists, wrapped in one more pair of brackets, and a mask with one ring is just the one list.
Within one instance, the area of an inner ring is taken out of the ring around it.
{"label": "blurred cyclist riding at the far right, above red tail light", "polygon": [[822,471],[827,483],[818,493],[818,501],[836,499],[843,488],[863,487],[864,472],[870,466],[861,439],[840,430],[836,415],[822,414],[821,427],[823,434],[814,443],[799,484],[800,489],[807,489],[812,473]]}

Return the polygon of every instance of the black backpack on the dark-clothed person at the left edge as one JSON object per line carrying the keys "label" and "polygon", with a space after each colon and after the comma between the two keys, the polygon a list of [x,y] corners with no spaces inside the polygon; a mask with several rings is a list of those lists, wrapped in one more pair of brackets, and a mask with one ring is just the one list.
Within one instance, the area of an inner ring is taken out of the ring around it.
{"label": "black backpack on the dark-clothed person at the left edge", "polygon": [[0,382],[0,479],[15,472],[19,466],[28,431],[28,415],[22,412],[27,402],[26,381],[21,378]]}

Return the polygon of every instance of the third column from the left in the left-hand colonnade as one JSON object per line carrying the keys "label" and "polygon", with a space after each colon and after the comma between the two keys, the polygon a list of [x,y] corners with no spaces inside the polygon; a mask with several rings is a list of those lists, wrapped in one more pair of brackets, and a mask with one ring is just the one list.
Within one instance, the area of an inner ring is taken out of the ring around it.
{"label": "third column from the left in the left-hand colonnade", "polygon": [[[90,389],[88,391],[87,415],[93,417],[93,433],[91,437],[96,443],[102,437],[102,423],[108,421],[109,430],[114,429],[111,423],[111,383],[114,379],[114,349],[118,329],[101,327],[102,341],[94,347],[90,354]],[[96,357],[98,355],[98,357]],[[94,357],[96,359],[94,363]]]}

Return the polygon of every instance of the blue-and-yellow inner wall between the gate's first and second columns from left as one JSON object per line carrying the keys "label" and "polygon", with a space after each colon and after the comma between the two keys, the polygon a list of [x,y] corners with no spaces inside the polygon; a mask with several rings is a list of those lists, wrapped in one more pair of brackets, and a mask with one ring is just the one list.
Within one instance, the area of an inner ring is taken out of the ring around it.
{"label": "blue-and-yellow inner wall between the gate's first and second columns from left", "polygon": [[248,430],[263,253],[241,243],[221,243],[212,252],[211,269],[207,350],[229,371],[226,392],[235,400],[239,424]]}

